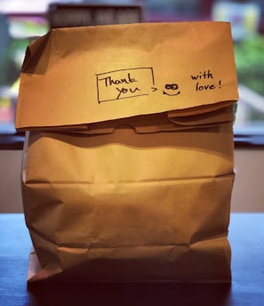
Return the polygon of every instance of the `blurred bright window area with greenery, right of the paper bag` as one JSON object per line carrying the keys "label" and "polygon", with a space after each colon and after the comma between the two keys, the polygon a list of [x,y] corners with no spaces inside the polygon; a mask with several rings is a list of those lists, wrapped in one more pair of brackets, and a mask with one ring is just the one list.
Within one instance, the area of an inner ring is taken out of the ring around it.
{"label": "blurred bright window area with greenery, right of the paper bag", "polygon": [[232,35],[239,82],[239,103],[235,133],[240,139],[253,136],[263,144],[264,134],[264,36],[262,1],[217,1],[212,19],[228,20]]}

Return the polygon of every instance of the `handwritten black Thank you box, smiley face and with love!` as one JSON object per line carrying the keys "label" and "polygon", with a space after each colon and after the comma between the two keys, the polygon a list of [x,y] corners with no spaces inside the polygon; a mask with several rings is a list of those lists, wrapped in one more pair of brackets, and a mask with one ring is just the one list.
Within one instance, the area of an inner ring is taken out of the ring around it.
{"label": "handwritten black Thank you box, smiley face and with love!", "polygon": [[[157,88],[155,84],[154,68],[128,68],[108,71],[96,75],[98,102],[117,101],[121,99],[137,98],[152,93],[162,93],[166,96],[179,96],[180,84],[164,84]],[[221,80],[215,81],[211,69],[190,74],[194,81],[195,92],[212,91],[221,88]]]}

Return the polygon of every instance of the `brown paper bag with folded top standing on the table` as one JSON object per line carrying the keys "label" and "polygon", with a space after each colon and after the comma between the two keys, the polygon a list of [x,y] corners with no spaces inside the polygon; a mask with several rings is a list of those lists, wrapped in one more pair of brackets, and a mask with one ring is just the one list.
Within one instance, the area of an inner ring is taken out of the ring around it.
{"label": "brown paper bag with folded top standing on the table", "polygon": [[229,282],[236,67],[228,23],[52,29],[16,127],[28,281]]}

